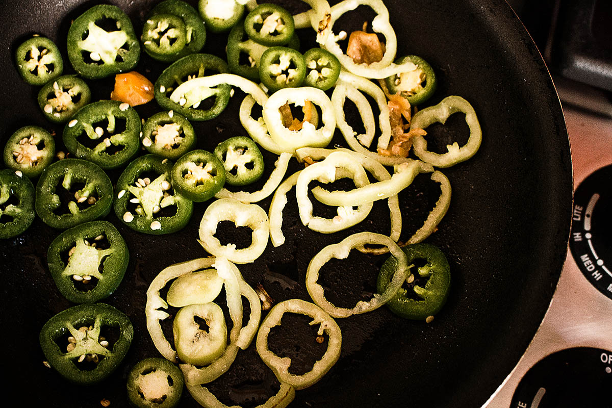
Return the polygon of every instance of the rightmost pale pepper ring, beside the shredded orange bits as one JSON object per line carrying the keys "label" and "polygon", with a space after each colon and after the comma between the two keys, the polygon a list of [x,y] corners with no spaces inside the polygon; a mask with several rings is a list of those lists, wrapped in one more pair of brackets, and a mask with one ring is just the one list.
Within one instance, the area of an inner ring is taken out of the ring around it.
{"label": "rightmost pale pepper ring, beside the shredded orange bits", "polygon": [[416,135],[412,139],[412,148],[414,149],[414,154],[420,160],[436,167],[446,168],[468,160],[468,158],[476,154],[482,142],[482,129],[480,129],[476,111],[474,111],[474,108],[472,108],[468,101],[460,96],[447,96],[438,105],[418,111],[412,117],[410,130],[425,129],[435,122],[444,124],[450,115],[457,112],[465,113],[465,121],[469,127],[468,143],[461,147],[459,147],[457,142],[449,144],[446,146],[448,152],[437,154],[427,150],[427,140],[423,136]]}

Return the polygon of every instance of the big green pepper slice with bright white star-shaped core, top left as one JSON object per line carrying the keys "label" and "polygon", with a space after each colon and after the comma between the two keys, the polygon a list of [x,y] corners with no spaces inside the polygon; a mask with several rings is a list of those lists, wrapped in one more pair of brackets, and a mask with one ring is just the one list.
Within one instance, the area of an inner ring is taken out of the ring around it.
{"label": "big green pepper slice with bright white star-shaped core, top left", "polygon": [[[100,27],[105,20],[114,21],[113,27]],[[77,17],[68,30],[67,42],[70,64],[89,80],[129,71],[140,59],[132,21],[110,4],[91,7]]]}

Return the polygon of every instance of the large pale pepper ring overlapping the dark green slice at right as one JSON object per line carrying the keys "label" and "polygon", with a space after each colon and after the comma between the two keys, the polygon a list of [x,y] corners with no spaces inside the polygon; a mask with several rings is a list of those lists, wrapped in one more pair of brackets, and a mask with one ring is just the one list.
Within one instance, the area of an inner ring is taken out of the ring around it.
{"label": "large pale pepper ring overlapping the dark green slice at right", "polygon": [[[397,259],[397,267],[393,274],[393,278],[382,294],[375,293],[368,302],[360,300],[352,309],[335,306],[325,299],[323,286],[317,282],[319,280],[319,270],[321,270],[321,267],[330,259],[346,259],[351,249],[364,245],[385,245],[389,248],[391,256]],[[401,284],[408,278],[409,274],[410,268],[408,265],[408,258],[394,240],[373,232],[359,232],[346,237],[339,243],[328,245],[310,260],[310,264],[308,264],[308,269],[306,270],[306,289],[310,297],[312,297],[312,300],[320,308],[329,313],[330,316],[349,317],[353,314],[361,314],[378,309],[389,302],[389,300],[400,290]]]}

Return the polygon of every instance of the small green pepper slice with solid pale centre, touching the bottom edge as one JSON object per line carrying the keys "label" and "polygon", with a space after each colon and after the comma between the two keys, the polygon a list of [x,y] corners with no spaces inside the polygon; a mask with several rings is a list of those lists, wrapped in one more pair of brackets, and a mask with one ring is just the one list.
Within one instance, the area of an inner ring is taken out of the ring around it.
{"label": "small green pepper slice with solid pale centre, touching the bottom edge", "polygon": [[165,358],[145,358],[127,376],[127,397],[136,408],[173,408],[184,382],[181,370]]}

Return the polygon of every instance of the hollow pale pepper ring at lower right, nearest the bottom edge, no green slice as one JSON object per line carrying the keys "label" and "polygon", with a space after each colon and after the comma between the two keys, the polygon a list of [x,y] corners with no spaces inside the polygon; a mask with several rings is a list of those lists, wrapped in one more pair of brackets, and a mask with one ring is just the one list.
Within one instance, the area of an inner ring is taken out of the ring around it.
{"label": "hollow pale pepper ring at lower right, nearest the bottom edge, no green slice", "polygon": [[[313,318],[310,325],[319,324],[318,335],[322,336],[326,333],[328,336],[327,350],[320,360],[315,362],[311,371],[302,375],[296,375],[289,373],[289,366],[291,366],[291,358],[289,357],[278,357],[268,347],[268,335],[273,327],[280,325],[280,322],[285,313],[297,313],[305,314]],[[310,387],[320,380],[327,371],[338,361],[340,357],[340,349],[342,344],[342,334],[338,324],[325,313],[325,311],[319,306],[305,302],[301,299],[289,299],[284,302],[277,303],[274,305],[272,310],[267,314],[266,318],[261,322],[259,332],[257,333],[256,347],[259,357],[269,366],[278,380],[282,383],[288,384],[296,388],[296,390],[302,390]]]}

